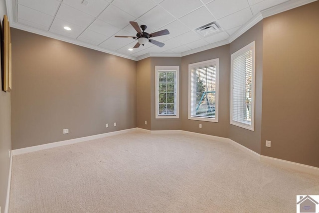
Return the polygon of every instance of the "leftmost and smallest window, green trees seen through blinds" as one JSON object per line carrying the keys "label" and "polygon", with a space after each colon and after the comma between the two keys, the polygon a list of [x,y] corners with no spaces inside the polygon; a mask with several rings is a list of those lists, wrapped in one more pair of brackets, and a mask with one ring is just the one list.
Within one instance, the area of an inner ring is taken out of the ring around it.
{"label": "leftmost and smallest window, green trees seen through blinds", "polygon": [[155,66],[156,118],[178,118],[179,66]]}

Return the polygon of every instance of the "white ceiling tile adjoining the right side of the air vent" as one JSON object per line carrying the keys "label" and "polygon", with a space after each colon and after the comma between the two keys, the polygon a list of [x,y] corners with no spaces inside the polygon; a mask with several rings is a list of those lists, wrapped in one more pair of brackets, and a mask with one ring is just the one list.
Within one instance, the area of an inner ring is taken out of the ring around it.
{"label": "white ceiling tile adjoining the right side of the air vent", "polygon": [[243,25],[252,17],[253,14],[250,10],[250,7],[247,7],[243,10],[219,19],[218,23],[220,24],[221,28],[223,28],[224,30],[228,30],[236,26]]}

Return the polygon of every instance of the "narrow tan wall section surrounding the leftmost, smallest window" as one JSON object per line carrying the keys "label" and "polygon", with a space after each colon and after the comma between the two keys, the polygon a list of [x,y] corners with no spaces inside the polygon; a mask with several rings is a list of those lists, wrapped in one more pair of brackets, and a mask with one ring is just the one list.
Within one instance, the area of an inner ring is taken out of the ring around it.
{"label": "narrow tan wall section surrounding the leftmost, smallest window", "polygon": [[[155,119],[155,66],[179,66],[180,70],[180,57],[151,57],[151,120],[152,130],[180,130],[181,119]],[[179,78],[180,82],[180,78]],[[181,91],[179,90],[179,101],[181,98]],[[179,105],[179,113],[182,107]]]}

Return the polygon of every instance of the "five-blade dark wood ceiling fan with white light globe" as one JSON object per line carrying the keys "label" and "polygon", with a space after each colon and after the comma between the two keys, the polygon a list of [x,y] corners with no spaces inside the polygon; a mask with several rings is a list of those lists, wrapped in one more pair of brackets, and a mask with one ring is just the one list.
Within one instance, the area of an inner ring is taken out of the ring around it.
{"label": "five-blade dark wood ceiling fan with white light globe", "polygon": [[[136,36],[122,36],[122,35],[115,35],[115,37],[119,37],[119,38],[134,38],[135,40],[138,40],[138,42],[135,44],[135,46],[133,48],[138,48],[141,44],[144,46],[145,44],[147,44],[148,42],[151,42],[159,47],[164,46],[165,44],[160,42],[160,41],[156,41],[151,39],[152,37],[156,37],[156,36],[160,36],[160,35],[167,35],[169,34],[169,31],[167,29],[163,29],[157,32],[153,32],[151,34],[145,32],[144,30],[146,30],[147,25],[141,25],[141,28],[139,26],[139,24],[135,21],[130,21],[130,24],[134,27],[134,29],[138,32],[136,34]],[[142,31],[142,30],[143,31]]]}

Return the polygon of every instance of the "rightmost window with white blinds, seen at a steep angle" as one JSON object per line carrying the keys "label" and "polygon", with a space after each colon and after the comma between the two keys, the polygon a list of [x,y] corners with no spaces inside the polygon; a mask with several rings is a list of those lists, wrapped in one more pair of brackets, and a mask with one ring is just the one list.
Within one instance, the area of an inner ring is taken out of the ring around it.
{"label": "rightmost window with white blinds, seen at a steep angle", "polygon": [[255,41],[231,55],[230,123],[254,131]]}

